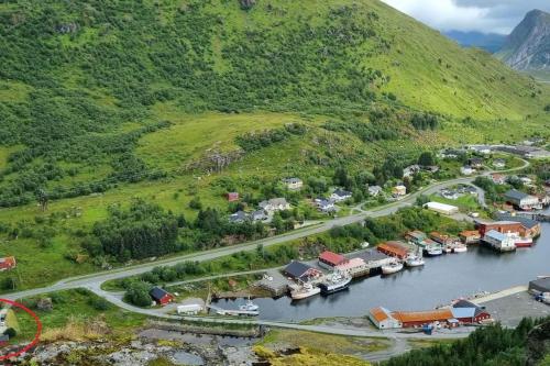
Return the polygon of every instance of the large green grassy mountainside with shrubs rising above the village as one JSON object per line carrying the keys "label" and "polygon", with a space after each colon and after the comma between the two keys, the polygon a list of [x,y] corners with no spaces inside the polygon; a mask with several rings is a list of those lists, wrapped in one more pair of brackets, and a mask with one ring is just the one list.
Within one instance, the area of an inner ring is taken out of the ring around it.
{"label": "large green grassy mountainside with shrubs rising above the village", "polygon": [[342,166],[363,187],[427,148],[548,132],[547,86],[377,0],[2,1],[0,48],[21,287],[105,266],[81,243],[134,197],[191,221],[234,211],[230,190],[323,193]]}

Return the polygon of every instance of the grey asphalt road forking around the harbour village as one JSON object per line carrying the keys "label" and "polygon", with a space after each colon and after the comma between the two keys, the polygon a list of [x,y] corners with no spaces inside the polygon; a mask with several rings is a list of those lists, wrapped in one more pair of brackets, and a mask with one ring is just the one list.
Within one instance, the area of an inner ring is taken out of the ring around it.
{"label": "grey asphalt road forking around the harbour village", "polygon": [[[526,168],[529,165],[528,162],[524,160],[524,165],[514,169],[509,169],[503,173],[509,173],[513,170],[520,170]],[[484,175],[488,175],[493,171],[487,171]],[[167,314],[158,309],[141,309],[136,308],[134,306],[131,306],[129,303],[125,303],[122,301],[122,293],[120,292],[109,292],[105,291],[101,289],[101,285],[107,281],[107,280],[112,280],[112,279],[119,279],[119,278],[124,278],[129,276],[134,276],[134,275],[140,275],[145,271],[148,271],[153,269],[156,266],[164,265],[164,266],[172,266],[176,265],[186,260],[197,260],[197,262],[204,262],[204,260],[210,260],[210,259],[216,259],[222,256],[231,255],[237,252],[241,251],[252,251],[257,247],[257,245],[262,244],[264,247],[284,243],[287,241],[296,240],[296,239],[301,239],[306,237],[309,235],[315,235],[319,234],[322,232],[326,232],[334,226],[342,226],[342,225],[348,225],[356,222],[363,221],[365,218],[380,218],[380,217],[385,217],[388,214],[392,214],[399,210],[400,208],[411,206],[417,197],[420,195],[433,195],[441,190],[442,188],[448,188],[452,187],[459,184],[464,184],[464,185],[472,185],[474,177],[466,177],[466,178],[458,178],[458,179],[451,179],[442,182],[436,182],[432,184],[424,189],[420,189],[419,191],[411,193],[404,199],[386,204],[382,208],[373,209],[373,210],[361,210],[360,213],[358,214],[351,214],[348,217],[343,218],[338,218],[329,221],[321,222],[317,225],[312,225],[309,228],[304,228],[284,235],[278,235],[278,236],[273,236],[273,237],[267,237],[263,239],[260,241],[255,242],[249,242],[240,245],[234,245],[230,247],[223,247],[223,248],[217,248],[217,249],[211,249],[211,251],[206,251],[201,253],[194,253],[194,254],[188,254],[188,255],[182,255],[182,256],[175,256],[172,258],[165,258],[161,260],[155,260],[151,263],[145,263],[145,264],[140,264],[131,267],[124,267],[124,268],[118,268],[113,270],[108,270],[103,273],[98,273],[98,274],[91,274],[91,275],[86,275],[86,276],[78,276],[78,277],[72,277],[67,278],[64,280],[58,281],[55,285],[47,286],[47,287],[42,287],[42,288],[35,288],[35,289],[30,289],[25,291],[19,291],[19,292],[12,292],[9,295],[2,296],[3,298],[7,299],[21,299],[24,297],[29,296],[35,296],[35,295],[41,295],[41,293],[47,293],[47,292],[53,292],[53,291],[58,291],[58,290],[66,290],[66,289],[74,289],[74,288],[87,288],[98,296],[105,298],[106,300],[110,301],[111,303],[136,313],[142,313],[147,317],[154,317],[154,318],[161,318],[161,319],[172,319],[172,320],[201,320],[204,322],[211,322],[211,323],[251,323],[251,321],[243,321],[239,319],[219,319],[219,318],[210,318],[210,317],[201,317],[201,318],[196,318],[196,317],[179,317],[179,315],[174,315],[174,314]],[[475,187],[475,186],[474,186]],[[484,191],[480,188],[477,188],[477,197],[480,200],[480,203],[482,206],[485,206],[485,199],[484,199]],[[465,220],[468,219],[464,215],[459,215],[455,218],[458,220]],[[251,271],[254,273],[254,271]],[[216,278],[219,276],[209,276],[198,280],[205,280],[208,278]],[[265,326],[272,326],[272,328],[283,328],[283,329],[293,329],[293,330],[302,330],[302,331],[311,331],[311,332],[319,332],[319,333],[328,333],[328,334],[338,334],[338,335],[349,335],[349,336],[363,336],[363,337],[391,337],[391,339],[458,339],[458,337],[464,337],[470,334],[472,329],[463,329],[462,332],[438,332],[433,336],[428,336],[425,335],[424,333],[410,333],[410,332],[400,332],[400,331],[372,331],[372,330],[364,330],[364,329],[351,329],[351,328],[334,328],[334,326],[323,326],[323,325],[304,325],[304,324],[296,324],[296,323],[282,323],[282,322],[270,322],[270,321],[252,321],[254,324],[260,324],[260,325],[265,325]]]}

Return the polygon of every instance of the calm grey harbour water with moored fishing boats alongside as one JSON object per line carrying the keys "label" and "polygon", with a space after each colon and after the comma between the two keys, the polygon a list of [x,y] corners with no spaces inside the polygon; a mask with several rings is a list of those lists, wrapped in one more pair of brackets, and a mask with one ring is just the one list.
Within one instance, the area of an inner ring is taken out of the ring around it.
{"label": "calm grey harbour water with moored fishing boats alongside", "polygon": [[[531,248],[498,254],[470,246],[468,253],[426,258],[421,268],[405,269],[387,277],[353,282],[345,291],[292,302],[290,298],[255,299],[260,319],[301,321],[312,318],[365,315],[383,306],[391,310],[426,310],[477,291],[497,291],[550,275],[550,223]],[[243,300],[221,300],[222,308],[237,308]]]}

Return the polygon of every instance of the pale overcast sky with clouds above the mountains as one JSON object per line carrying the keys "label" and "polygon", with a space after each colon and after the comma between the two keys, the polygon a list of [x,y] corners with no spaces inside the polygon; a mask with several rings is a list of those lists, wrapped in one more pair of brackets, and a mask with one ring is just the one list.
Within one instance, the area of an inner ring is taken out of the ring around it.
{"label": "pale overcast sky with clouds above the mountains", "polygon": [[550,12],[550,0],[382,0],[440,31],[508,34],[532,9]]}

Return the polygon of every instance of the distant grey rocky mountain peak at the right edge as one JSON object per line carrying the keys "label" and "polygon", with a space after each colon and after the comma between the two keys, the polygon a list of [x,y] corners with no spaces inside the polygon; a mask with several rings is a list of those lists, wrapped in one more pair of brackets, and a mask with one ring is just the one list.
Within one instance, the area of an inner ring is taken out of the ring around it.
{"label": "distant grey rocky mountain peak at the right edge", "polygon": [[496,56],[517,70],[550,78],[550,14],[528,12]]}

